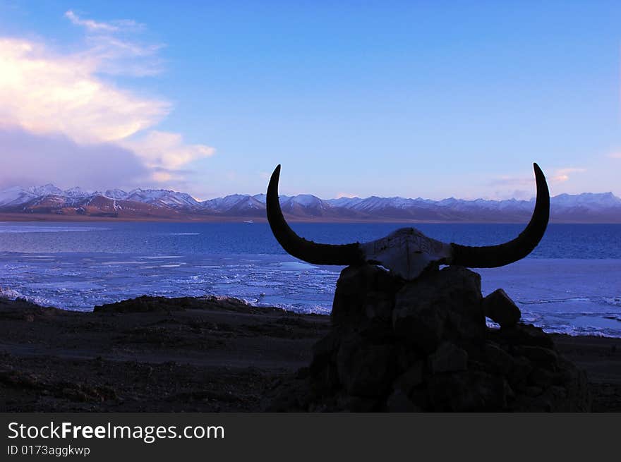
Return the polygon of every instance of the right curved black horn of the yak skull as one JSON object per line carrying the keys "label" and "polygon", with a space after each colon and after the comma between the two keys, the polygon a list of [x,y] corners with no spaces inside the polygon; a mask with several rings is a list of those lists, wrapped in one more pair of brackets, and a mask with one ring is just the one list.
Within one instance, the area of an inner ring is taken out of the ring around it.
{"label": "right curved black horn of the yak skull", "polygon": [[545,233],[550,219],[550,192],[548,183],[545,182],[543,171],[537,164],[535,169],[535,181],[537,185],[537,200],[531,221],[517,238],[500,245],[488,245],[486,247],[469,247],[451,243],[452,265],[471,268],[495,268],[509,265],[526,257],[536,248]]}

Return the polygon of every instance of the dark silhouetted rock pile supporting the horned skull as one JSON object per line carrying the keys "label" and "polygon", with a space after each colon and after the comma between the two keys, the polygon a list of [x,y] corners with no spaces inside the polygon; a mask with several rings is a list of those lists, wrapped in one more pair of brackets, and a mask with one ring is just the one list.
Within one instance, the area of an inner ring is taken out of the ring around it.
{"label": "dark silhouetted rock pile supporting the horned skull", "polygon": [[402,281],[374,265],[347,267],[330,332],[267,410],[589,411],[584,372],[519,317],[504,291],[483,298],[469,269]]}

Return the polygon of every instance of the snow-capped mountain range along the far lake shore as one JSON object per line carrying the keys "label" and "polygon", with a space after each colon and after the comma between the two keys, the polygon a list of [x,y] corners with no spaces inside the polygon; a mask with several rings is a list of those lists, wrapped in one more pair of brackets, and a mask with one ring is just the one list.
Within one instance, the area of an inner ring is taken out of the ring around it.
{"label": "snow-capped mountain range along the far lake shore", "polygon": [[[308,194],[280,196],[282,211],[291,220],[306,221],[528,221],[531,200],[444,200],[404,197],[341,197],[322,200]],[[61,190],[52,184],[0,191],[3,219],[24,219],[16,214],[37,214],[37,219],[109,217],[118,219],[265,219],[265,194],[234,194],[198,201],[171,190],[120,189]],[[32,217],[35,218],[35,217]],[[550,220],[621,223],[621,199],[613,193],[561,194],[550,200]]]}

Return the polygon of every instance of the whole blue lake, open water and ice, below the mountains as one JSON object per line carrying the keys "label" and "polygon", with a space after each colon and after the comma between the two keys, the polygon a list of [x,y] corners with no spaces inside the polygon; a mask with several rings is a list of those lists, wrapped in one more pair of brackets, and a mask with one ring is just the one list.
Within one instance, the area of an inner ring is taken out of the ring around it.
{"label": "whole blue lake, open water and ice, below the mountains", "polygon": [[[325,243],[370,241],[399,224],[292,224]],[[416,224],[428,236],[490,245],[519,224]],[[140,295],[226,295],[256,305],[330,312],[342,267],[290,257],[262,223],[0,223],[0,288],[69,310]],[[548,332],[621,337],[621,225],[550,224],[524,260],[476,269],[526,321]]]}

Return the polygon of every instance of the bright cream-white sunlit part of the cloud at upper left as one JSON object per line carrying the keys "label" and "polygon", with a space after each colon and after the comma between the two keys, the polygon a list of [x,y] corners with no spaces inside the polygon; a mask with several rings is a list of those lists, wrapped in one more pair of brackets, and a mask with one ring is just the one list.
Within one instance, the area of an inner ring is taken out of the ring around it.
{"label": "bright cream-white sunlit part of the cloud at upper left", "polygon": [[76,142],[127,138],[160,121],[170,104],[97,78],[96,63],[42,44],[0,39],[0,125],[63,133]]}

